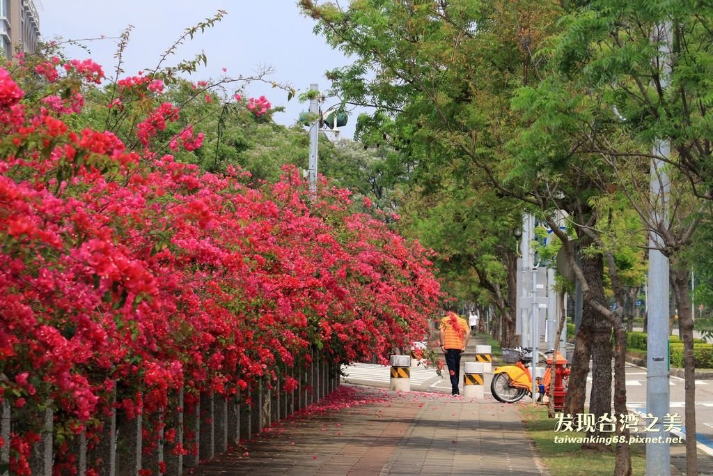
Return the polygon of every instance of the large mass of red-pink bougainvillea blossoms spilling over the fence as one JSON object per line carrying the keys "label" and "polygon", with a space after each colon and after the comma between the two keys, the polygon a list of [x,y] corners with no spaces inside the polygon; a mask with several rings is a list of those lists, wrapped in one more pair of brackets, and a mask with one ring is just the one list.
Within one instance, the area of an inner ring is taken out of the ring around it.
{"label": "large mass of red-pink bougainvillea blossoms spilling over the fence", "polygon": [[[70,64],[89,82],[101,71]],[[77,432],[115,388],[127,415],[167,407],[182,385],[187,402],[263,375],[289,390],[281,364],[312,346],[344,363],[426,333],[440,295],[429,252],[351,213],[349,192],[322,180],[310,203],[296,168],[248,188],[232,169],[142,159],[113,133],[71,131],[67,108],[43,106],[55,99],[22,97],[0,69],[0,399],[51,399]],[[143,145],[177,117],[155,108]],[[26,440],[11,445],[24,474]]]}

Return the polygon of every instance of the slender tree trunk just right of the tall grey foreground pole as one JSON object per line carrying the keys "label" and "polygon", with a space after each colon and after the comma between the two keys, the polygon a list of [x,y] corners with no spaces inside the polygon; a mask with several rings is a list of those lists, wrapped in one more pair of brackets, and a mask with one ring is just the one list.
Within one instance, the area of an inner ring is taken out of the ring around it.
{"label": "slender tree trunk just right of the tall grey foreground pole", "polygon": [[672,266],[671,282],[678,303],[680,337],[683,340],[684,377],[686,379],[684,410],[686,425],[686,474],[698,474],[698,453],[696,450],[696,380],[693,358],[693,319],[691,299],[688,294],[688,270],[680,265]]}

